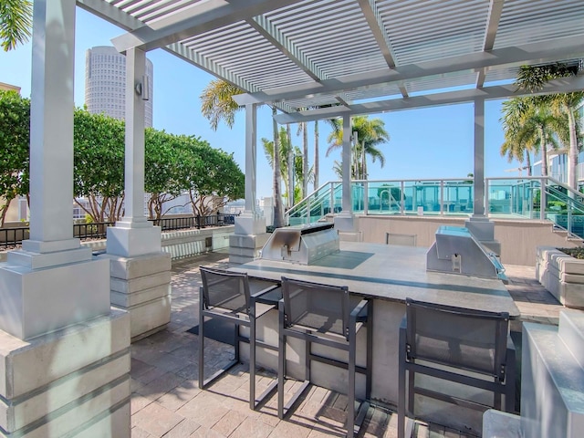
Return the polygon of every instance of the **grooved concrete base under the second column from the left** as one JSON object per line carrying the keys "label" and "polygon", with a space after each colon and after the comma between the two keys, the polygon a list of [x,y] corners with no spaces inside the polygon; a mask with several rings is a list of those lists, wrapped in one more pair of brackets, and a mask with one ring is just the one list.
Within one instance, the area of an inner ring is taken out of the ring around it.
{"label": "grooved concrete base under the second column from the left", "polygon": [[171,321],[171,255],[98,258],[110,261],[111,304],[130,314],[131,341],[165,328]]}

